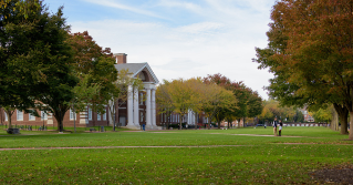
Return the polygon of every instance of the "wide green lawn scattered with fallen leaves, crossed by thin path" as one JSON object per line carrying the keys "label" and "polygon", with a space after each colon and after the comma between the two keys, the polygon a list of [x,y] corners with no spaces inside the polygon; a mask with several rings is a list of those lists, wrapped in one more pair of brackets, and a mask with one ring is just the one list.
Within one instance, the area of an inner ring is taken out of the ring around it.
{"label": "wide green lawn scattered with fallen leaves, crossed by thin path", "polygon": [[21,133],[1,130],[0,147],[207,147],[0,151],[0,184],[316,184],[315,169],[353,162],[353,142],[326,127]]}

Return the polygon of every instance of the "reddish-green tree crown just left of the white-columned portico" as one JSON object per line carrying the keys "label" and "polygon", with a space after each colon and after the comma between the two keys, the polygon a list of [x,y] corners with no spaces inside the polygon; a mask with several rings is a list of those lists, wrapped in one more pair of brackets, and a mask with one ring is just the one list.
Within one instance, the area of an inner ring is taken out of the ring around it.
{"label": "reddish-green tree crown just left of the white-columned portico", "polygon": [[82,74],[86,75],[90,86],[100,85],[100,91],[85,103],[90,103],[94,111],[105,113],[105,105],[120,93],[116,85],[117,71],[111,49],[100,47],[87,31],[70,34],[66,42],[74,53],[72,65],[75,74],[80,79],[83,79]]}

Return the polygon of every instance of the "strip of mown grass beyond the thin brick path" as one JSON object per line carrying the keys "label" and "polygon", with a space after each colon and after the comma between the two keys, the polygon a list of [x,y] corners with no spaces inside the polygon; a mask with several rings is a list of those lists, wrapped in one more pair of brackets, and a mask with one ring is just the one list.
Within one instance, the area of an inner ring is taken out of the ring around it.
{"label": "strip of mown grass beyond the thin brick path", "polygon": [[[1,131],[6,134],[6,131]],[[58,134],[56,131],[21,131],[21,135],[0,136],[0,147],[59,147],[59,146],[191,146],[191,145],[261,145],[270,143],[353,144],[326,127],[285,127],[282,137],[247,136],[271,135],[272,129],[233,130],[173,130],[150,132],[104,132]],[[285,137],[300,136],[300,137]]]}

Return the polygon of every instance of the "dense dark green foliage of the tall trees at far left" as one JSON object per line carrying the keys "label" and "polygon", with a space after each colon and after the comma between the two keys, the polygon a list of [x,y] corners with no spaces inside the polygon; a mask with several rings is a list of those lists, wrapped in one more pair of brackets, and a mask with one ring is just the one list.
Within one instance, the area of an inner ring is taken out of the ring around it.
{"label": "dense dark green foliage of the tall trees at far left", "polygon": [[38,2],[12,0],[1,7],[8,17],[0,20],[0,104],[27,110],[38,100],[35,106],[62,123],[69,110],[64,102],[73,99],[77,83],[70,66],[73,53],[65,43],[69,27],[62,8],[51,14]]}

